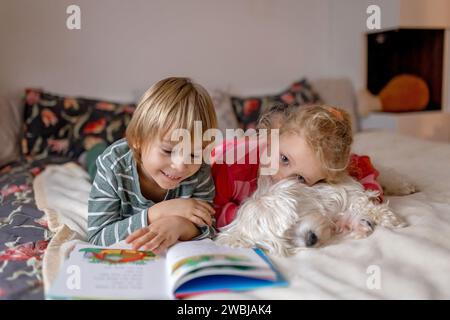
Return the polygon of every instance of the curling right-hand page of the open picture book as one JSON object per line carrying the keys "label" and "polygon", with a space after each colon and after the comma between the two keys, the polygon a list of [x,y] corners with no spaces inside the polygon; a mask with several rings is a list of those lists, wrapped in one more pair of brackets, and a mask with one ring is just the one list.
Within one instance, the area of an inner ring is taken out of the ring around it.
{"label": "curling right-hand page of the open picture book", "polygon": [[253,249],[219,246],[211,239],[179,242],[171,247],[167,253],[167,269],[172,291],[185,282],[180,280],[185,276],[193,279],[207,274],[233,274],[276,278],[275,272]]}

